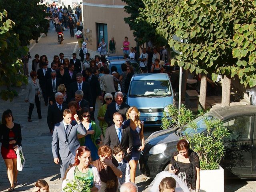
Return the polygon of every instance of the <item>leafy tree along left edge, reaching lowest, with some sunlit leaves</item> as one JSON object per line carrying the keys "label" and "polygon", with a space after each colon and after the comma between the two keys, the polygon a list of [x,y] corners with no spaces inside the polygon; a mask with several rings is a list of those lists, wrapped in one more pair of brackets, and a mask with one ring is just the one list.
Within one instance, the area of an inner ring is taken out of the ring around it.
{"label": "leafy tree along left edge, reaching lowest, with some sunlit leaves", "polygon": [[0,95],[3,100],[14,98],[17,93],[12,86],[21,86],[27,82],[22,75],[21,57],[28,52],[27,47],[20,47],[18,34],[14,33],[14,22],[8,17],[6,10],[0,12]]}

